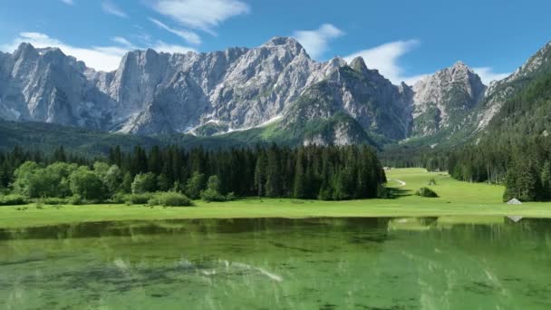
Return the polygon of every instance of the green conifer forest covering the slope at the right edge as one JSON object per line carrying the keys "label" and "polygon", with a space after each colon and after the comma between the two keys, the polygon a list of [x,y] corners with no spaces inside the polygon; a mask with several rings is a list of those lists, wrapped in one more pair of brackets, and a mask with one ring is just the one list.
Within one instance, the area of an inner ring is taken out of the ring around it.
{"label": "green conifer forest covering the slope at the right edge", "polygon": [[469,182],[504,184],[504,200],[551,200],[551,74],[527,83],[504,103],[474,141],[432,150],[397,147],[385,165],[447,170]]}

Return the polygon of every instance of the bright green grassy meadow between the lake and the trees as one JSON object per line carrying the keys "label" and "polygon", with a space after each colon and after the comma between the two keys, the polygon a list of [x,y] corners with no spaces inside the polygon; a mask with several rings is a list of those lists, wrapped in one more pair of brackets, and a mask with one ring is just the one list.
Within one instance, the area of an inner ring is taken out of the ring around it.
{"label": "bright green grassy meadow between the lake and the trees", "polygon": [[[503,187],[472,184],[451,179],[446,173],[421,169],[387,172],[396,199],[317,201],[296,199],[242,199],[225,203],[197,201],[194,208],[162,208],[126,205],[60,206],[36,208],[0,207],[0,228],[25,228],[83,221],[169,218],[307,218],[307,217],[424,217],[424,216],[523,216],[551,218],[551,203],[508,206],[502,202]],[[430,186],[440,198],[414,196]],[[405,183],[405,185],[403,185]]]}

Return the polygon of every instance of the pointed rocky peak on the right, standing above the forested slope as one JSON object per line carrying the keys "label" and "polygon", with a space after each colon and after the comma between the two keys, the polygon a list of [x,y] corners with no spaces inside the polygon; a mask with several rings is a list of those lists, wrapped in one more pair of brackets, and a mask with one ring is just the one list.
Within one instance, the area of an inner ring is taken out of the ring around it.
{"label": "pointed rocky peak on the right, standing above the forested slope", "polygon": [[416,82],[411,136],[426,137],[440,131],[459,130],[485,91],[486,86],[478,75],[461,62]]}

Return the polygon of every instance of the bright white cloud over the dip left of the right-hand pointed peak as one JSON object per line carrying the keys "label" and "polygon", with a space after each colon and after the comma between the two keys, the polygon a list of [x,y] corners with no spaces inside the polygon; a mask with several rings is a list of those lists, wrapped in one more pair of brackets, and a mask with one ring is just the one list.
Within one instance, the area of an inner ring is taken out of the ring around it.
{"label": "bright white cloud over the dip left of the right-hand pointed peak", "polygon": [[422,76],[403,76],[404,70],[399,63],[403,54],[410,52],[419,44],[418,40],[395,41],[353,53],[344,59],[350,63],[354,58],[361,56],[368,68],[379,70],[384,77],[398,84],[402,81],[413,81]]}

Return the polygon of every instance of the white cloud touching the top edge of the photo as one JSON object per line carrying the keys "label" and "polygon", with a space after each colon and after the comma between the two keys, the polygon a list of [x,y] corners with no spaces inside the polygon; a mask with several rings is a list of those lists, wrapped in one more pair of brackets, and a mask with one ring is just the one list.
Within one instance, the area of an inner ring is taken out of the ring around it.
{"label": "white cloud touching the top edge of the photo", "polygon": [[250,7],[239,0],[154,0],[153,9],[209,34],[215,34],[213,28],[228,18],[250,12]]}

